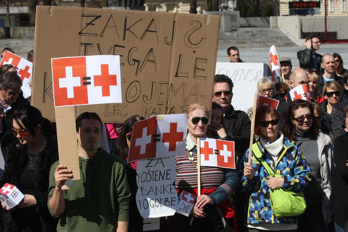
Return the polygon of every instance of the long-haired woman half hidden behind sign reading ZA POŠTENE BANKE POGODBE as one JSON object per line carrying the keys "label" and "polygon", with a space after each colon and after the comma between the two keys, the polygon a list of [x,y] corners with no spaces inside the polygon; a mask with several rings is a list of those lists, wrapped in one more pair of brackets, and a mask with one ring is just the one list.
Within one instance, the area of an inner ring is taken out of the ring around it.
{"label": "long-haired woman half hidden behind sign reading ZA PO\u0160TENE BANKE POGODBE", "polygon": [[131,196],[129,199],[129,225],[128,231],[143,231],[143,218],[141,217],[136,203],[136,195],[138,190],[138,185],[136,181],[137,176],[137,161],[132,163],[127,163],[130,139],[132,138],[133,126],[136,122],[144,120],[143,117],[139,115],[133,115],[128,118],[122,125],[121,132],[116,141],[115,155],[120,158],[121,163],[125,166],[127,173],[127,181]]}

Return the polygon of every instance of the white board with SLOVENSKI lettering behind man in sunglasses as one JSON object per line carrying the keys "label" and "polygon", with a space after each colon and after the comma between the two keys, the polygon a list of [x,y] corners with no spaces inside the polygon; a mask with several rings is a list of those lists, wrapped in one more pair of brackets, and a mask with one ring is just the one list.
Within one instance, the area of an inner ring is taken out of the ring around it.
{"label": "white board with SLOVENSKI lettering behind man in sunglasses", "polygon": [[225,74],[233,82],[232,105],[235,110],[247,110],[253,106],[258,80],[272,75],[265,63],[216,63],[215,74]]}

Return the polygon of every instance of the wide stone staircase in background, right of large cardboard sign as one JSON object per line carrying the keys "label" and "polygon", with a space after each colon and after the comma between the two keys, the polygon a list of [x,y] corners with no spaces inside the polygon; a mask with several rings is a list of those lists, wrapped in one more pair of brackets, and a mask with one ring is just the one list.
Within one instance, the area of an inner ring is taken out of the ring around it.
{"label": "wide stone staircase in background, right of large cardboard sign", "polygon": [[219,48],[235,46],[237,48],[296,46],[280,29],[269,27],[236,28],[231,32],[220,32]]}

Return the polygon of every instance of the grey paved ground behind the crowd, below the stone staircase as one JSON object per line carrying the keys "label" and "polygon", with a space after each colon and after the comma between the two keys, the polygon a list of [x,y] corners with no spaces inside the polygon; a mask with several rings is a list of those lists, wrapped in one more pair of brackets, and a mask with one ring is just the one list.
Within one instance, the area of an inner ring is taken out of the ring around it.
{"label": "grey paved ground behind the crowd, below the stone staircase", "polygon": [[[233,46],[231,44],[231,46]],[[227,49],[227,48],[226,48]],[[229,62],[226,49],[218,50],[218,62]],[[244,62],[264,62],[269,63],[270,48],[241,48],[239,49],[240,58]],[[298,66],[297,51],[305,49],[305,47],[277,47],[278,56],[286,56],[291,59],[292,66]],[[343,66],[348,68],[348,44],[322,44],[320,45],[319,54],[338,53],[343,59]]]}

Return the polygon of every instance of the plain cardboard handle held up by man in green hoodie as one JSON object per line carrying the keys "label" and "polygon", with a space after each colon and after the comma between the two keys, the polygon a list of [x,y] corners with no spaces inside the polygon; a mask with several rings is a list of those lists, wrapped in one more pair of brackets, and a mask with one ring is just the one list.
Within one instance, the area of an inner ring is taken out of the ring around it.
{"label": "plain cardboard handle held up by man in green hoodie", "polygon": [[59,164],[72,170],[73,180],[80,179],[74,106],[56,107]]}

